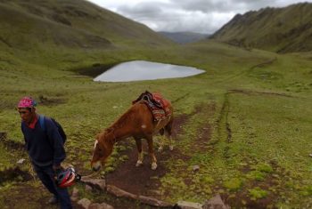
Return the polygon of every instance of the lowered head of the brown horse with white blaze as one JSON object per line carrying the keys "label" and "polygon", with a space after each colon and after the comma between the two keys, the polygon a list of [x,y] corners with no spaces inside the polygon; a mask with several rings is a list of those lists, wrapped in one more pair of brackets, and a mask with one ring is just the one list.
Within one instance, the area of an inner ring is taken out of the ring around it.
{"label": "lowered head of the brown horse with white blaze", "polygon": [[109,134],[99,133],[94,142],[94,153],[91,160],[91,167],[94,172],[99,171],[105,164],[106,159],[111,155],[113,143],[109,139]]}

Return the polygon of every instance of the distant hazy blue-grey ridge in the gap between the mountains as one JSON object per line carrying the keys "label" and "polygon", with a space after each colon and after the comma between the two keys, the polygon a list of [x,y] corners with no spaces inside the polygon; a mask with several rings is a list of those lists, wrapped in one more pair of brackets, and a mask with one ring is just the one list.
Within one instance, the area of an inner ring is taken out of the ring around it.
{"label": "distant hazy blue-grey ridge in the gap between the mountains", "polygon": [[177,42],[179,44],[187,44],[200,41],[201,39],[205,39],[209,36],[209,34],[201,34],[194,32],[159,32],[162,36],[166,36],[169,39]]}

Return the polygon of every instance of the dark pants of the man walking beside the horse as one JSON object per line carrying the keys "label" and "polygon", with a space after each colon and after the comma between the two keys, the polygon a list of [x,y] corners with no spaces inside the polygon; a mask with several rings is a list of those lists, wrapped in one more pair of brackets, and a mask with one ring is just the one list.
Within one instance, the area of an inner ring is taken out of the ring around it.
{"label": "dark pants of the man walking beside the horse", "polygon": [[60,202],[62,209],[72,208],[70,202],[69,191],[65,188],[59,188],[56,186],[54,181],[54,171],[52,165],[49,166],[38,166],[33,164],[34,170],[37,173],[38,178],[45,185],[45,188],[48,189],[54,197]]}

